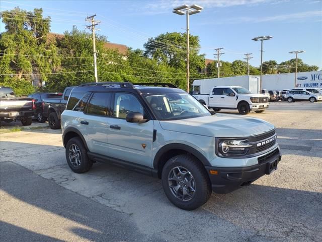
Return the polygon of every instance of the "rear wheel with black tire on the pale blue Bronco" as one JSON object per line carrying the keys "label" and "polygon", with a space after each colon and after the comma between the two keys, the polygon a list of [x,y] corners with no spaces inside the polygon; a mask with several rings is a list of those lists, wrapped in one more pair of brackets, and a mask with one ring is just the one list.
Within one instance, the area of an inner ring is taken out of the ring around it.
{"label": "rear wheel with black tire on the pale blue Bronco", "polygon": [[[72,156],[70,149],[72,149],[73,147],[77,147],[77,149],[79,150],[75,152],[79,153],[79,155],[76,156],[77,160],[75,160],[75,156],[74,158],[71,158],[69,156]],[[87,149],[85,148],[83,141],[79,137],[74,137],[68,140],[66,144],[65,155],[69,168],[75,173],[84,173],[92,168],[93,162],[89,159],[87,155]]]}

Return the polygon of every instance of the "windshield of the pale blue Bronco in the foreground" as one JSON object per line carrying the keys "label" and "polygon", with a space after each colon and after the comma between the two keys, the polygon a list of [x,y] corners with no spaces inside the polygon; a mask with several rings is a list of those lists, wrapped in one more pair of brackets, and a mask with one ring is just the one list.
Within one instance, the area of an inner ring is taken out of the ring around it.
{"label": "windshield of the pale blue Bronco in the foreground", "polygon": [[158,120],[173,120],[211,116],[211,113],[187,93],[167,93],[145,96]]}

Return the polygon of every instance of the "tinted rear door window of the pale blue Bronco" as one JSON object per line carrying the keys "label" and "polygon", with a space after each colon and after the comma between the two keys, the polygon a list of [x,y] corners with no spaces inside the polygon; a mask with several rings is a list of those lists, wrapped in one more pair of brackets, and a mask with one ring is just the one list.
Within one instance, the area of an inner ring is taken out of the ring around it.
{"label": "tinted rear door window of the pale blue Bronco", "polygon": [[88,102],[86,113],[100,116],[112,116],[110,92],[95,92]]}

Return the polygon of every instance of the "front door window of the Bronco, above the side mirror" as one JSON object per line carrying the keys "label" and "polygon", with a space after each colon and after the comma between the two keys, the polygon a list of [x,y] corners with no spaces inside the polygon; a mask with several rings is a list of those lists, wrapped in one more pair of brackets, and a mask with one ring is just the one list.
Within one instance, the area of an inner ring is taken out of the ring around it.
{"label": "front door window of the Bronco, above the side mirror", "polygon": [[144,115],[144,109],[137,98],[130,93],[115,93],[114,117],[126,119],[129,112],[140,112]]}

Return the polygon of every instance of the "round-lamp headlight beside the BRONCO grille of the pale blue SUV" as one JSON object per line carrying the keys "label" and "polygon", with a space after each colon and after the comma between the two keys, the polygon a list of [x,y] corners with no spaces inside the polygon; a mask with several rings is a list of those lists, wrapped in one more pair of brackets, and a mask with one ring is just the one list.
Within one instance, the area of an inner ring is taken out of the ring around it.
{"label": "round-lamp headlight beside the BRONCO grille of the pale blue SUV", "polygon": [[218,153],[221,156],[241,156],[246,155],[252,145],[245,139],[228,140],[220,139],[218,142]]}

